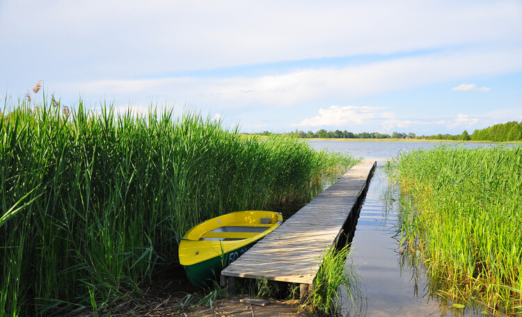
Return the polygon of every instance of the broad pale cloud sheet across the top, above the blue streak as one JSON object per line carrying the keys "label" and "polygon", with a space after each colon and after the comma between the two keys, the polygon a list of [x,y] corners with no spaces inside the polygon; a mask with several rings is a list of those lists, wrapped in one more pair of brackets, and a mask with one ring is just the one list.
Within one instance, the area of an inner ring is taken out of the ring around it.
{"label": "broad pale cloud sheet across the top, above the blue streak", "polygon": [[9,60],[3,74],[93,79],[463,44],[514,47],[521,10],[509,0],[8,1],[0,38],[17,49],[0,50],[0,58]]}

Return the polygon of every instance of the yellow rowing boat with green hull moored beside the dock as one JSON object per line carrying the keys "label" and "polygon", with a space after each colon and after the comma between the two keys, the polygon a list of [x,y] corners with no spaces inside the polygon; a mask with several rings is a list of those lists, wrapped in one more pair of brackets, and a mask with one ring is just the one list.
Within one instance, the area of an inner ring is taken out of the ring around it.
{"label": "yellow rowing boat with green hull moored beside the dock", "polygon": [[178,254],[189,281],[202,286],[283,222],[274,211],[236,211],[192,227]]}

